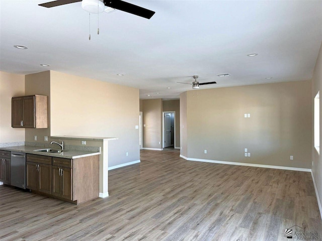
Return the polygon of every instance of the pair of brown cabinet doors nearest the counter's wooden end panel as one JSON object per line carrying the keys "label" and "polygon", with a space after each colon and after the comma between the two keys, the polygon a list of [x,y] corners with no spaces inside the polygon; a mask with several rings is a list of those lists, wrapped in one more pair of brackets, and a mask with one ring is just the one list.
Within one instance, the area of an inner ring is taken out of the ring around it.
{"label": "pair of brown cabinet doors nearest the counter's wooden end panel", "polygon": [[72,200],[72,169],[52,166],[52,195]]}

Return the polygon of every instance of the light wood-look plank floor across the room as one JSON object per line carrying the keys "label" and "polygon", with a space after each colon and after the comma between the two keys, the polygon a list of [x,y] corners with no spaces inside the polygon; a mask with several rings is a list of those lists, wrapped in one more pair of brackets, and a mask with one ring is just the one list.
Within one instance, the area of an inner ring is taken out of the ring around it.
{"label": "light wood-look plank floor across the room", "polygon": [[108,198],[78,206],[0,186],[1,240],[292,240],[322,237],[310,173],[186,161],[141,151],[109,172]]}

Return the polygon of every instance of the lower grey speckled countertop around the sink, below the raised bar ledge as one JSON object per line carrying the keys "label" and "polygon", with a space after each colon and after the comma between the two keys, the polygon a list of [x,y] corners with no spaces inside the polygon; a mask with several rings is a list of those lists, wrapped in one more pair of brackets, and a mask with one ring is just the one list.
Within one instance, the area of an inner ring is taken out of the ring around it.
{"label": "lower grey speckled countertop around the sink, below the raised bar ledge", "polygon": [[65,150],[61,153],[48,153],[48,152],[35,152],[34,150],[45,149],[44,147],[34,146],[16,146],[16,147],[0,147],[0,150],[11,151],[11,152],[24,152],[28,154],[35,154],[49,157],[60,157],[68,159],[77,159],[82,157],[89,157],[100,155],[100,152],[89,152],[89,151],[77,151],[77,150]]}

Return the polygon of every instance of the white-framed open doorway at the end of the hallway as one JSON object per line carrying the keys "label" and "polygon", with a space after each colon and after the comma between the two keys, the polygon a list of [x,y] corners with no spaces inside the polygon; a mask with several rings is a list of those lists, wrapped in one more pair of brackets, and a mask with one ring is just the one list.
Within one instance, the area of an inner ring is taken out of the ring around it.
{"label": "white-framed open doorway at the end of the hallway", "polygon": [[163,148],[175,147],[176,111],[163,111]]}

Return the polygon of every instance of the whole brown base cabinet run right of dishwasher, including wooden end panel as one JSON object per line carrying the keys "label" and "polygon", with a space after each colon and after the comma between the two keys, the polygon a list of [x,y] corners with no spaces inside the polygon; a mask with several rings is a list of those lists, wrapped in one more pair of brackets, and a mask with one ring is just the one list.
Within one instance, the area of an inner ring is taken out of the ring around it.
{"label": "whole brown base cabinet run right of dishwasher, including wooden end panel", "polygon": [[79,204],[99,197],[99,155],[67,159],[27,154],[27,188]]}

